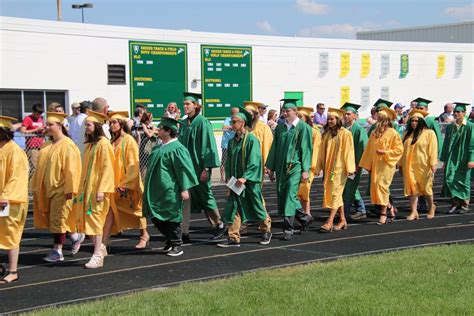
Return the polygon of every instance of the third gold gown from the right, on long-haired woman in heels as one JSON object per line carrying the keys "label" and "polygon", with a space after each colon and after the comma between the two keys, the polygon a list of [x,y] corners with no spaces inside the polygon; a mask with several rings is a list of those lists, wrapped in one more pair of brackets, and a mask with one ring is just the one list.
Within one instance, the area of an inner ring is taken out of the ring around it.
{"label": "third gold gown from the right, on long-haired woman in heels", "polygon": [[345,128],[341,128],[335,137],[326,133],[319,148],[316,174],[321,170],[324,173],[323,207],[338,209],[344,206],[342,193],[347,175],[356,169],[352,133]]}

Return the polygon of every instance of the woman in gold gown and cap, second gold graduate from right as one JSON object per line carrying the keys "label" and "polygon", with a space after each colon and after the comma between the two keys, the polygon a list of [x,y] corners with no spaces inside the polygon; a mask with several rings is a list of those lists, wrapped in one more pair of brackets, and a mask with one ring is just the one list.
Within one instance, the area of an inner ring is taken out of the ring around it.
{"label": "woman in gold gown and cap, second gold graduate from right", "polygon": [[403,154],[400,135],[392,127],[396,116],[396,112],[390,108],[379,108],[377,123],[359,162],[359,167],[370,172],[370,198],[373,204],[380,206],[379,225],[390,222],[387,221],[387,210],[392,218],[395,217],[389,201],[389,188],[396,165]]}

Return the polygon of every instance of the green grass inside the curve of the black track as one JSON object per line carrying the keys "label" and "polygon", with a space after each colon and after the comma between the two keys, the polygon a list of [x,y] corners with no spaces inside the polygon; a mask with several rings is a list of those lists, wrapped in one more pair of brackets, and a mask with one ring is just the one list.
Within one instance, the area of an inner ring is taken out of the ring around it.
{"label": "green grass inside the curve of the black track", "polygon": [[473,315],[474,245],[266,270],[35,314]]}

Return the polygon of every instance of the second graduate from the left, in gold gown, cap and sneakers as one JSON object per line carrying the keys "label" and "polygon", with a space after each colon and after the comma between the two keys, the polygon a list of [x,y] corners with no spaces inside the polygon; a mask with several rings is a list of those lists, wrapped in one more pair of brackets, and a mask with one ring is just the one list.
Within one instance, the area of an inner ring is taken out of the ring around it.
{"label": "second graduate from the left, in gold gown, cap and sneakers", "polygon": [[53,234],[53,249],[43,260],[64,260],[66,220],[72,209],[72,199],[79,191],[81,152],[74,144],[63,121],[63,113],[46,113],[46,133],[51,137],[39,151],[32,178],[34,226]]}

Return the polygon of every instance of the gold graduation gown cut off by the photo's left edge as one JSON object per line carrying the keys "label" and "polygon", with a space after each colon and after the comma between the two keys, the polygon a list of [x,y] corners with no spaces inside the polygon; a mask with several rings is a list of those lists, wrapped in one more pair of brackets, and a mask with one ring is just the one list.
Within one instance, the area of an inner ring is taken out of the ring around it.
{"label": "gold graduation gown cut off by the photo's left edge", "polygon": [[14,141],[0,149],[0,199],[7,200],[10,215],[0,217],[0,248],[17,249],[28,211],[28,158]]}

